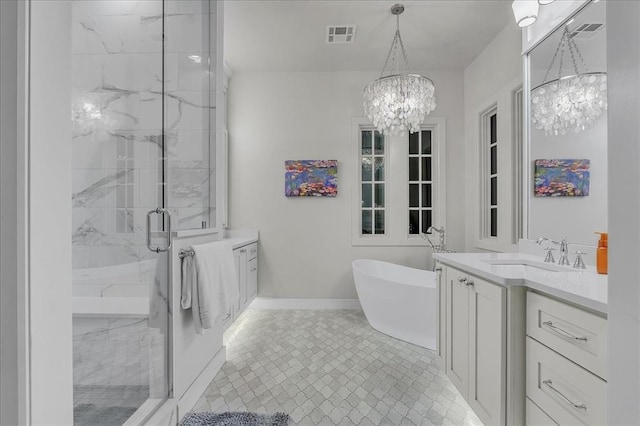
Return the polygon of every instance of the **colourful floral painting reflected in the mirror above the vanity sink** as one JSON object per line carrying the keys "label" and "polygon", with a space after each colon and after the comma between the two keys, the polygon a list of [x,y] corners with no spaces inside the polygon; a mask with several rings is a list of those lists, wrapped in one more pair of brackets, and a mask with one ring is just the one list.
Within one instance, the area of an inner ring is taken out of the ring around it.
{"label": "colourful floral painting reflected in the mirror above the vanity sink", "polygon": [[589,160],[536,160],[536,197],[589,195]]}

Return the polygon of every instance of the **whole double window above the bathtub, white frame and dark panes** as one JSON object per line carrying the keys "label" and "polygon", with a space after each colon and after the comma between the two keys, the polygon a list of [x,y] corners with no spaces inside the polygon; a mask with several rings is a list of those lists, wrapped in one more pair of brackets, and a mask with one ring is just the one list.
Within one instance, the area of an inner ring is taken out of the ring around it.
{"label": "whole double window above the bathtub, white frame and dark panes", "polygon": [[383,135],[353,120],[351,243],[424,246],[420,233],[446,226],[446,123],[428,117],[420,131]]}

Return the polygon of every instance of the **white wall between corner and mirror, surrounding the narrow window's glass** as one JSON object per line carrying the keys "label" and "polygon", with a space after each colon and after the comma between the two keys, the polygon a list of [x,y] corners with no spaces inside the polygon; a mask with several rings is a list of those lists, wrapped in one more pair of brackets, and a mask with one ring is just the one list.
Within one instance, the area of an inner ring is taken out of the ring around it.
{"label": "white wall between corner and mirror, surrounding the narrow window's glass", "polygon": [[[512,249],[514,174],[512,96],[522,85],[521,30],[510,22],[464,70],[466,251]],[[498,108],[498,238],[479,241],[481,115]]]}

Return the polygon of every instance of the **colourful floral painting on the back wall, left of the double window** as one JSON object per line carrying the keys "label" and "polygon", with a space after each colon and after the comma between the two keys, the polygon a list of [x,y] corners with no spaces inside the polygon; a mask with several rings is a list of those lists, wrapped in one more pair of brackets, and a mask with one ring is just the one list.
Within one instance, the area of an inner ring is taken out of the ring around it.
{"label": "colourful floral painting on the back wall, left of the double window", "polygon": [[288,160],[284,162],[284,168],[284,194],[287,197],[338,195],[337,160]]}

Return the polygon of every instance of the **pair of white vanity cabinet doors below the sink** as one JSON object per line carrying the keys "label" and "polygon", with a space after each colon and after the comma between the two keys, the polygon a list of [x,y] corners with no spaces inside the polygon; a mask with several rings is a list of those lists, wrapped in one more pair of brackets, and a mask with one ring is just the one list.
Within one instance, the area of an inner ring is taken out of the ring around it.
{"label": "pair of white vanity cabinet doors below the sink", "polygon": [[447,376],[485,424],[504,425],[506,290],[456,268],[444,272]]}

